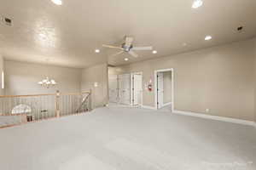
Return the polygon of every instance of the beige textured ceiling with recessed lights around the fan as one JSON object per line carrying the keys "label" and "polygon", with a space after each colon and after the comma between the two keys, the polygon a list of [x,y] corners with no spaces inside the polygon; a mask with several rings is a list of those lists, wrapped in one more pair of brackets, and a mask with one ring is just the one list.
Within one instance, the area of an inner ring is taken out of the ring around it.
{"label": "beige textured ceiling with recessed lights around the fan", "polygon": [[[1,0],[0,14],[14,26],[0,25],[0,50],[5,59],[83,68],[104,63],[124,65],[177,54],[256,35],[255,0]],[[237,26],[244,26],[238,33]],[[154,46],[158,54],[140,52],[108,57],[125,36],[136,46]],[[212,35],[211,41],[204,37]],[[186,42],[187,46],[183,46]],[[96,54],[95,49],[101,53]]]}

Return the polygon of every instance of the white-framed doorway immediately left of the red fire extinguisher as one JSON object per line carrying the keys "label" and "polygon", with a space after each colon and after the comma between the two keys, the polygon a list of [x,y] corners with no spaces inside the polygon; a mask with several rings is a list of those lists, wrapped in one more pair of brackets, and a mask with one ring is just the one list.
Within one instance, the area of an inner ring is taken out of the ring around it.
{"label": "white-framed doorway immediately left of the red fire extinguisher", "polygon": [[131,105],[143,105],[143,73],[131,73]]}

